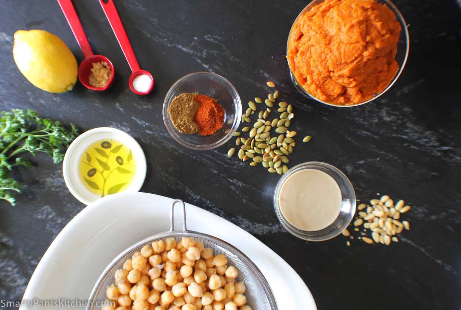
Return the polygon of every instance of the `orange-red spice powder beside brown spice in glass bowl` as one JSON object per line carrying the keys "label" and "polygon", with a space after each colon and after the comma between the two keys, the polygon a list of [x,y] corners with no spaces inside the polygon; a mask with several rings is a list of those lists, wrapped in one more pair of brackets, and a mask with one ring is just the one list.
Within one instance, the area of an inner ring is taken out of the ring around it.
{"label": "orange-red spice powder beside brown spice in glass bowl", "polygon": [[224,109],[214,98],[207,95],[195,96],[200,107],[195,112],[194,121],[199,126],[202,136],[209,136],[217,132],[224,122]]}

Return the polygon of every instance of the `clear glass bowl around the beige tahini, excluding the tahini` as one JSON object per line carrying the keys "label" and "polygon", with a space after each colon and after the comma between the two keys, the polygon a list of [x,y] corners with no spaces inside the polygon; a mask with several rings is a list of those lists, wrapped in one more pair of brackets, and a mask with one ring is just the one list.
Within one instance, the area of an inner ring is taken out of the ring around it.
{"label": "clear glass bowl around the beige tahini, excluding the tahini", "polygon": [[[341,196],[343,202],[341,203],[341,210],[336,220],[328,227],[317,230],[308,231],[301,230],[291,224],[282,213],[280,209],[280,203],[278,197],[280,196],[280,190],[284,183],[294,173],[305,170],[305,169],[317,169],[327,173],[329,176],[335,179],[341,190]],[[355,191],[346,175],[341,172],[337,167],[331,166],[325,162],[320,161],[308,161],[302,164],[296,165],[288,170],[277,183],[274,193],[274,207],[277,218],[292,235],[307,241],[325,241],[339,235],[351,222],[355,214]]]}

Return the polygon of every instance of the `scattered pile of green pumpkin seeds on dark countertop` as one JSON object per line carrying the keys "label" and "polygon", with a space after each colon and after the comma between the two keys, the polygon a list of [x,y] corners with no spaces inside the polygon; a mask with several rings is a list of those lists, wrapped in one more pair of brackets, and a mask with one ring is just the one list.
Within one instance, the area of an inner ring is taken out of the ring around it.
{"label": "scattered pile of green pumpkin seeds on dark countertop", "polygon": [[[269,87],[275,87],[271,81],[266,84]],[[249,101],[248,108],[242,115],[244,127],[241,132],[235,132],[234,136],[237,137],[236,146],[240,147],[237,153],[239,159],[242,161],[251,159],[250,166],[257,166],[261,163],[267,171],[283,174],[288,171],[288,166],[285,164],[290,162],[288,156],[293,153],[293,148],[296,146],[294,137],[297,133],[288,129],[291,120],[295,117],[293,106],[285,101],[276,103],[279,95],[278,91],[269,93],[264,104],[259,97],[254,98],[254,101]],[[280,114],[271,120],[269,115],[275,109]],[[252,115],[257,115],[257,118]],[[247,126],[251,124],[253,126]],[[273,137],[271,136],[272,129],[276,133]],[[248,138],[241,137],[242,132],[248,132]],[[306,136],[302,141],[309,142],[311,138],[311,136]],[[234,153],[235,148],[231,148],[227,156],[231,157]]]}

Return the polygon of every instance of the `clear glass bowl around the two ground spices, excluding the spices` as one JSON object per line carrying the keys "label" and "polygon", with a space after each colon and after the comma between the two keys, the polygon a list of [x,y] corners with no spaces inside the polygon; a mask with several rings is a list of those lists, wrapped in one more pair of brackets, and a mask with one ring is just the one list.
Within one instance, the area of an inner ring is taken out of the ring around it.
{"label": "clear glass bowl around the two ground spices, excluding the spices", "polygon": [[[183,92],[198,92],[218,100],[225,111],[221,129],[210,136],[181,133],[174,126],[168,114],[171,100]],[[215,149],[233,137],[242,120],[242,102],[235,87],[221,75],[210,72],[195,72],[177,80],[166,93],[163,102],[163,121],[166,130],[177,143],[197,150]]]}

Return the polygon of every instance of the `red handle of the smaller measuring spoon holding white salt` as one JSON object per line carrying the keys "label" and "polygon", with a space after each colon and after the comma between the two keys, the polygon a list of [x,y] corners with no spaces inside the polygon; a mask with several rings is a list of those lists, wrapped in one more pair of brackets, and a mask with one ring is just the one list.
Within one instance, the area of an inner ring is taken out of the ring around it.
{"label": "red handle of the smaller measuring spoon holding white salt", "polygon": [[120,16],[118,16],[117,9],[115,8],[114,2],[112,0],[108,0],[107,3],[104,3],[103,0],[99,0],[102,10],[106,14],[109,23],[111,24],[112,30],[115,34],[115,37],[118,40],[118,44],[122,48],[122,51],[125,55],[128,64],[130,65],[130,69],[132,72],[138,71],[139,63],[136,60],[135,52],[133,52],[133,48],[131,47],[130,40],[126,35],[125,29],[123,27],[122,21],[120,20]]}

